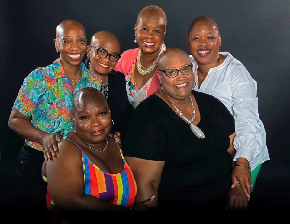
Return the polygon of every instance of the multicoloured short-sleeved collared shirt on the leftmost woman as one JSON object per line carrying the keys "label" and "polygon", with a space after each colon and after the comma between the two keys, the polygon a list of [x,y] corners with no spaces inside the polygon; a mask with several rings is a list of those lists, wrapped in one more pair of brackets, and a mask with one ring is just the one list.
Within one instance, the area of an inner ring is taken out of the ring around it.
{"label": "multicoloured short-sleeved collared shirt on the leftmost woman", "polygon": [[[86,87],[103,91],[101,78],[86,69],[82,62],[81,69],[82,77],[73,93],[60,58],[47,67],[35,69],[24,79],[13,108],[31,116],[31,123],[38,129],[48,133],[59,132],[60,138],[63,138],[72,126],[72,98],[76,92]],[[38,142],[25,139],[25,143],[43,151],[42,144]]]}

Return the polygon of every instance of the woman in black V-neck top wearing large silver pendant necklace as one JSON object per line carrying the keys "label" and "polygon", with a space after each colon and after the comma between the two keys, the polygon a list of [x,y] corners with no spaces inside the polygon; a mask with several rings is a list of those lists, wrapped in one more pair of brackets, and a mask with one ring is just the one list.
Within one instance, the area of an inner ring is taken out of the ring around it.
{"label": "woman in black V-neck top wearing large silver pendant necklace", "polygon": [[[124,155],[137,183],[137,201],[154,194],[158,199],[154,206],[158,201],[159,206],[212,205],[225,210],[234,119],[216,98],[192,91],[192,64],[184,51],[167,49],[160,55],[159,69],[158,92],[136,108],[122,134]],[[130,126],[133,120],[138,131]],[[230,203],[243,207],[247,197],[240,185],[229,194],[236,192],[242,200]]]}

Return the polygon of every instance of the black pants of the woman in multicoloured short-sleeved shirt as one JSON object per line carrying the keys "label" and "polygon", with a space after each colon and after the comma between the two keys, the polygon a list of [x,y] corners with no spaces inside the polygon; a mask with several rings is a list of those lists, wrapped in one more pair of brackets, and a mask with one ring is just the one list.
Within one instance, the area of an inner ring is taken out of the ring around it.
{"label": "black pants of the woman in multicoloured short-sleeved shirt", "polygon": [[42,223],[45,219],[47,183],[41,178],[43,152],[23,145],[16,168],[15,199],[21,219]]}

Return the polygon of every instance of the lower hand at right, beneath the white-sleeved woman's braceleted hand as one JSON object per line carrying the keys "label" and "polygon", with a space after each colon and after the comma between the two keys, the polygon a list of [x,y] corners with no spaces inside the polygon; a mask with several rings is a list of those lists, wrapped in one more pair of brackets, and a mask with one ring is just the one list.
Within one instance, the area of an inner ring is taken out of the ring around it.
{"label": "lower hand at right, beneath the white-sleeved woman's braceleted hand", "polygon": [[227,193],[227,210],[245,211],[248,207],[249,198],[244,193],[240,185],[230,188]]}

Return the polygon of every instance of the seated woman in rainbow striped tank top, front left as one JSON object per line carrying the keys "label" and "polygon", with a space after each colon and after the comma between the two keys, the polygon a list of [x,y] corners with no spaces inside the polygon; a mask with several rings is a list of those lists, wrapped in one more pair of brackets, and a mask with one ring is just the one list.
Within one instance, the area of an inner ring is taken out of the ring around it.
{"label": "seated woman in rainbow striped tank top, front left", "polygon": [[69,219],[76,211],[116,211],[131,216],[135,207],[145,209],[154,196],[134,206],[135,179],[120,146],[108,136],[114,122],[104,95],[95,88],[82,89],[73,98],[72,111],[75,130],[42,167],[48,182],[47,209],[54,216],[51,220],[58,209],[69,211]]}

